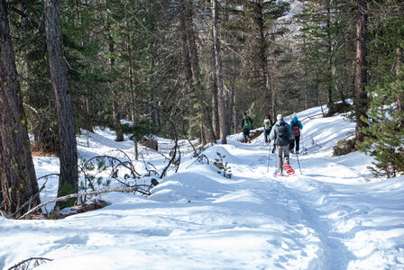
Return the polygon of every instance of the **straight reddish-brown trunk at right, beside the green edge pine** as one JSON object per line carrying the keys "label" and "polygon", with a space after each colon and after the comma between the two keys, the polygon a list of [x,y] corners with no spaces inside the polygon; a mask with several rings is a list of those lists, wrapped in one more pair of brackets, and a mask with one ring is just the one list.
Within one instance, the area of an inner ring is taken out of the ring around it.
{"label": "straight reddish-brown trunk at right, beside the green edge pine", "polygon": [[367,48],[367,0],[356,1],[356,89],[355,89],[355,109],[356,109],[356,139],[363,141],[363,127],[367,123],[361,118],[367,118],[367,93],[365,86],[368,84],[368,62],[366,60]]}

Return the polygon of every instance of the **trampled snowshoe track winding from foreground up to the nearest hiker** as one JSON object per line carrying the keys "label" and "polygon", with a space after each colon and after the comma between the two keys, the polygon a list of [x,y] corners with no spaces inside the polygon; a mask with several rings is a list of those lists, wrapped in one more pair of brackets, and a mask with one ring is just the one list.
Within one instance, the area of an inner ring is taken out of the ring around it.
{"label": "trampled snowshoe track winding from foreground up to the nearest hiker", "polygon": [[[248,169],[260,172],[262,179],[268,183],[268,185],[262,186],[261,181],[254,179],[255,181],[252,181],[254,184],[251,184],[251,188],[255,193],[262,193],[263,196],[271,198],[268,202],[271,204],[279,201],[286,202],[282,209],[293,210],[289,213],[293,217],[293,222],[304,225],[306,231],[310,231],[314,238],[320,240],[318,243],[319,250],[317,251],[320,256],[317,258],[318,262],[315,264],[315,268],[346,269],[353,256],[344,246],[344,239],[333,231],[333,220],[321,219],[321,213],[318,212],[321,201],[317,196],[321,194],[321,199],[325,199],[327,188],[324,182],[319,182],[316,178],[328,178],[328,180],[337,181],[335,173],[327,174],[330,171],[327,166],[335,167],[338,165],[333,162],[330,165],[330,162],[312,160],[310,156],[300,156],[300,165],[305,166],[302,168],[302,173],[308,173],[308,175],[301,175],[298,169],[297,156],[290,155],[291,164],[295,168],[296,175],[276,177],[274,176],[274,171],[277,166],[277,157],[276,152],[274,154],[269,153],[271,147],[265,147],[263,151],[262,146],[244,145],[241,148],[249,149],[253,153],[251,156],[259,157],[258,165],[249,164],[247,168],[242,169],[243,173]],[[246,157],[248,156],[246,155]],[[310,162],[307,162],[308,160]],[[312,166],[312,164],[316,164],[316,166]],[[325,165],[325,167],[321,169],[321,165]],[[340,165],[336,169],[339,172],[346,171],[352,174],[352,170],[346,166]],[[314,194],[310,194],[313,191]],[[274,205],[274,208],[280,209],[280,206]],[[338,209],[338,206],[335,205],[335,208]]]}

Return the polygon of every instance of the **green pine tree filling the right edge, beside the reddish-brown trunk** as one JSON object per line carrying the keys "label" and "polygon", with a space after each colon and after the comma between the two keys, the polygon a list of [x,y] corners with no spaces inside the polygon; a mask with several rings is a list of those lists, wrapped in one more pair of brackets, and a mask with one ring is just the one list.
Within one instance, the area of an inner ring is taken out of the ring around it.
{"label": "green pine tree filling the right edge, beside the reddish-brown trunk", "polygon": [[404,172],[404,110],[399,105],[404,94],[404,4],[390,1],[370,10],[370,120],[359,148],[374,157],[375,175],[394,177]]}

